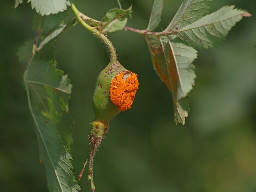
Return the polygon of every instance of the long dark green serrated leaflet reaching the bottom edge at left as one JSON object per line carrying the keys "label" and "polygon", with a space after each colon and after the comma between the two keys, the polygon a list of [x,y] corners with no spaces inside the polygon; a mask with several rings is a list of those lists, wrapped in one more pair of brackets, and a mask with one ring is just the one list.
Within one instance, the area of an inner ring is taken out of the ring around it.
{"label": "long dark green serrated leaflet reaching the bottom edge at left", "polygon": [[78,189],[70,163],[72,158],[56,126],[39,110],[31,108],[31,113],[36,124],[40,160],[46,168],[49,191],[72,192],[72,189]]}

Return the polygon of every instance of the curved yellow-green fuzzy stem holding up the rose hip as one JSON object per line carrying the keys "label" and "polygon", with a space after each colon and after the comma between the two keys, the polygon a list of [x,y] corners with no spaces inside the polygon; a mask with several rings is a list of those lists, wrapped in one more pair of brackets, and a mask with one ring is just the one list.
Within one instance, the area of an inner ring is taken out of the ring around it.
{"label": "curved yellow-green fuzzy stem holding up the rose hip", "polygon": [[117,59],[116,49],[112,45],[110,40],[107,38],[107,36],[105,36],[100,31],[98,31],[97,29],[91,27],[86,22],[84,22],[83,19],[80,16],[80,12],[77,10],[76,6],[74,5],[74,3],[72,1],[71,1],[71,6],[70,7],[71,7],[72,11],[74,12],[77,20],[81,23],[81,25],[84,28],[86,28],[88,31],[92,32],[97,38],[99,38],[100,40],[102,40],[105,43],[105,45],[107,46],[107,48],[110,52],[110,61],[115,63],[116,59]]}

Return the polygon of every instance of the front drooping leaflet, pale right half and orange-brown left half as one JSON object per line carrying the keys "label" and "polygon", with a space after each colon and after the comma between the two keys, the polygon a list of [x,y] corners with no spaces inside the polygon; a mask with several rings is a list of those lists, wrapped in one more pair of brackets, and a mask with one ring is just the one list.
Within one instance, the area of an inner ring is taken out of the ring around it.
{"label": "front drooping leaflet, pale right half and orange-brown left half", "polygon": [[197,58],[197,51],[176,35],[169,35],[168,38],[162,36],[160,41],[164,48],[172,93],[175,100],[179,101],[187,96],[195,83],[195,66],[192,62]]}

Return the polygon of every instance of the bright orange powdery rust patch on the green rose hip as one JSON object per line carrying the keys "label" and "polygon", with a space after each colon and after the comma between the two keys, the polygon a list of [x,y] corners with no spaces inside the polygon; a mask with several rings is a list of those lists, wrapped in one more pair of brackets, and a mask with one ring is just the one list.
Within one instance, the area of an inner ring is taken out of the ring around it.
{"label": "bright orange powdery rust patch on the green rose hip", "polygon": [[120,72],[111,82],[109,97],[120,111],[125,111],[131,108],[138,86],[137,74],[130,71]]}

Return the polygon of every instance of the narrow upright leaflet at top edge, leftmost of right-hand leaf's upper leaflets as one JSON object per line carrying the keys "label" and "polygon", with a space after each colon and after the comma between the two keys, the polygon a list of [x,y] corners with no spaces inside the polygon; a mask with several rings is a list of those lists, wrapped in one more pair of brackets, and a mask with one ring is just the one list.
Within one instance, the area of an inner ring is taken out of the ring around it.
{"label": "narrow upright leaflet at top edge, leftmost of right-hand leaf's upper leaflets", "polygon": [[162,10],[163,0],[153,0],[152,11],[147,28],[148,31],[154,31],[158,27],[161,21]]}

